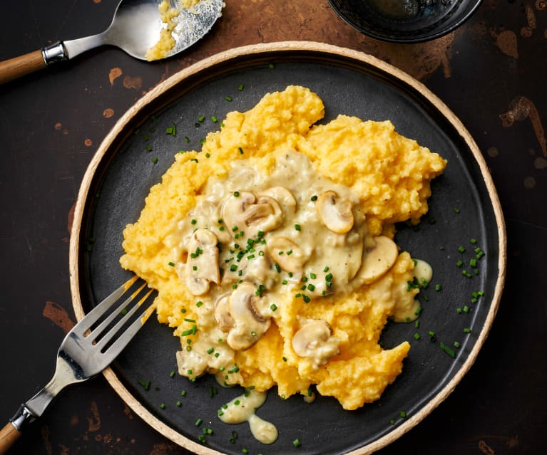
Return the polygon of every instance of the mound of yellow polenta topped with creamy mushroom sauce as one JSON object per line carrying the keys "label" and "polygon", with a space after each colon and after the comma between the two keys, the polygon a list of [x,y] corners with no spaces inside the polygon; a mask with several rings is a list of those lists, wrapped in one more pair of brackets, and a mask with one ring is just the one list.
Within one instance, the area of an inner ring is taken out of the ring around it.
{"label": "mound of yellow polenta topped with creamy mushroom sauce", "polygon": [[409,343],[378,344],[417,305],[394,223],[426,213],[446,162],[389,121],[323,115],[298,86],[229,113],[123,232],[121,265],[158,289],[181,375],[282,397],[317,385],[357,409],[402,371]]}

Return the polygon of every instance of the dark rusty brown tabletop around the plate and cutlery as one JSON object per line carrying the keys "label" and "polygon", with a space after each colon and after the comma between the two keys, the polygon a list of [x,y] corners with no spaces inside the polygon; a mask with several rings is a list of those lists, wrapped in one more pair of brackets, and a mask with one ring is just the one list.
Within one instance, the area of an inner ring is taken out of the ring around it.
{"label": "dark rusty brown tabletop around the plate and cutlery", "polygon": [[[102,31],[116,3],[4,1],[0,61]],[[3,423],[49,380],[74,323],[71,211],[101,140],[178,70],[229,48],[286,40],[364,51],[424,83],[474,136],[506,217],[506,288],[478,359],[444,403],[379,454],[545,453],[547,8],[536,0],[484,0],[454,33],[414,45],[362,36],[327,0],[227,0],[213,32],[176,58],[145,63],[100,48],[1,86]],[[12,453],[188,454],[133,414],[102,376],[66,389]]]}

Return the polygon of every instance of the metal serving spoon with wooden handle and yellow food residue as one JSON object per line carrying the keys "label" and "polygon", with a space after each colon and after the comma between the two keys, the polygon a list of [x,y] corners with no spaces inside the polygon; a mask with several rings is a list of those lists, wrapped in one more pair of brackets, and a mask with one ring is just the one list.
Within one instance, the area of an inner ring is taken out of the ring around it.
{"label": "metal serving spoon with wooden handle and yellow food residue", "polygon": [[[0,62],[0,84],[20,78],[61,61],[67,61],[85,51],[110,44],[126,51],[130,56],[147,60],[148,49],[160,39],[165,27],[158,9],[161,0],[121,0],[110,26],[98,35],[70,41],[58,41],[24,56]],[[180,6],[180,0],[171,0],[180,10],[178,23],[173,31],[175,46],[167,56],[185,50],[202,38],[221,16],[223,0],[200,0],[190,9]]]}

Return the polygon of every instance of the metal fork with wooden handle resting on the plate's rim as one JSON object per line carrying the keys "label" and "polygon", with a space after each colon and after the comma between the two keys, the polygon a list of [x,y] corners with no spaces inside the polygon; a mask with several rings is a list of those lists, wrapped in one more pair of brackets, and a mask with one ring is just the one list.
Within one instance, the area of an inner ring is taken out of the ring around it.
{"label": "metal fork with wooden handle resting on the plate's rim", "polygon": [[[51,381],[34,397],[21,404],[14,417],[9,419],[6,426],[0,430],[0,454],[6,451],[19,439],[21,432],[31,422],[34,422],[46,410],[48,404],[58,392],[67,385],[88,380],[103,371],[116,356],[123,350],[138,330],[143,326],[146,315],[143,313],[149,305],[143,305],[153,289],[149,289],[128,309],[128,305],[138,298],[146,283],[138,286],[126,300],[118,305],[116,310],[107,315],[113,305],[134,284],[138,276],[123,283],[110,296],[105,298],[91,310],[73,329],[67,333],[57,352],[56,369]],[[127,328],[125,326],[132,316],[141,308],[145,309],[140,316]],[[101,319],[102,318],[102,319]],[[95,325],[98,323],[96,327]],[[123,329],[123,331],[121,331]]]}

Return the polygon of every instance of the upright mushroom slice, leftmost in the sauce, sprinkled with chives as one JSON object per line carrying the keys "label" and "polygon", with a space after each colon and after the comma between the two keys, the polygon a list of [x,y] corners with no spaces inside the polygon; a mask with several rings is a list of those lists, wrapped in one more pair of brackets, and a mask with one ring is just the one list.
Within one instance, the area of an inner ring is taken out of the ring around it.
{"label": "upright mushroom slice, leftmost in the sauce, sprinkled with chives", "polygon": [[185,282],[194,296],[207,293],[210,283],[220,283],[217,243],[217,236],[203,228],[196,229],[188,241]]}

